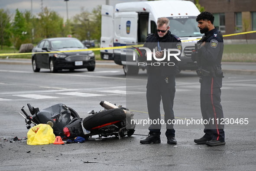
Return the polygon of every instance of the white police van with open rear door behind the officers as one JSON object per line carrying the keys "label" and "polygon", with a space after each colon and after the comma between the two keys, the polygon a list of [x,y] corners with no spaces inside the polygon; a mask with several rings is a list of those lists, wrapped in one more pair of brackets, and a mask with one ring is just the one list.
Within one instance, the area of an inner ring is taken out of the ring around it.
{"label": "white police van with open rear door behind the officers", "polygon": [[[159,17],[170,20],[170,31],[181,39],[182,54],[178,62],[179,70],[196,70],[197,64],[191,60],[194,43],[202,37],[196,22],[198,8],[187,0],[157,0],[117,3],[115,8],[102,5],[100,47],[115,47],[143,44],[146,37],[156,32]],[[113,60],[123,65],[125,74],[138,74],[138,60],[128,60],[126,48],[100,51],[104,60]],[[132,58],[132,57],[131,57]]]}

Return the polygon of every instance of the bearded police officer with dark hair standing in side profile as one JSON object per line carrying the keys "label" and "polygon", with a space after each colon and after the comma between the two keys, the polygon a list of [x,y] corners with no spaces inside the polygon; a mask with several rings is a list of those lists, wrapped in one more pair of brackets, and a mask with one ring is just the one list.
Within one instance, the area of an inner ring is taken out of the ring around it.
{"label": "bearded police officer with dark hair standing in side profile", "polygon": [[195,45],[191,54],[193,61],[199,66],[197,74],[201,83],[200,101],[201,113],[204,120],[204,136],[194,139],[197,144],[208,146],[225,145],[224,119],[220,94],[223,72],[221,71],[221,59],[223,54],[223,37],[217,28],[214,28],[214,16],[209,12],[202,12],[196,18],[198,28],[204,36]]}

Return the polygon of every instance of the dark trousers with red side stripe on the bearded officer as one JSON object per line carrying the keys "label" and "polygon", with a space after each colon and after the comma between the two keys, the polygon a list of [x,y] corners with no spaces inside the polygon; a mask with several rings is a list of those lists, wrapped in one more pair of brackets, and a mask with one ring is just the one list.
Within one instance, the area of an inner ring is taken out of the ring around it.
{"label": "dark trousers with red side stripe on the bearded officer", "polygon": [[201,113],[204,122],[204,138],[225,141],[224,119],[222,106],[220,104],[220,94],[222,87],[222,77],[201,76]]}

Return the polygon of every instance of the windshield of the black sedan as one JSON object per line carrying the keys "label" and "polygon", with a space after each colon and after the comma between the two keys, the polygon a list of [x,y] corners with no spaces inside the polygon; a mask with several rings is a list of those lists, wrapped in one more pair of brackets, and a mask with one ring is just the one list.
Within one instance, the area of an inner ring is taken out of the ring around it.
{"label": "windshield of the black sedan", "polygon": [[77,39],[53,40],[52,48],[84,48],[84,44]]}

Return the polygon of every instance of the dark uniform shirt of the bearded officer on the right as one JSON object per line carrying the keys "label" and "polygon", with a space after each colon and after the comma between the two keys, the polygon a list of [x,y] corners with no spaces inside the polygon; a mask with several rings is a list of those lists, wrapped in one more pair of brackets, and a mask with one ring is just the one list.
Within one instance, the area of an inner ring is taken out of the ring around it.
{"label": "dark uniform shirt of the bearded officer on the right", "polygon": [[201,46],[199,55],[203,67],[220,65],[223,54],[223,37],[217,28],[204,33],[207,37],[205,45]]}

